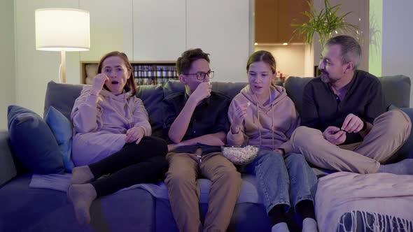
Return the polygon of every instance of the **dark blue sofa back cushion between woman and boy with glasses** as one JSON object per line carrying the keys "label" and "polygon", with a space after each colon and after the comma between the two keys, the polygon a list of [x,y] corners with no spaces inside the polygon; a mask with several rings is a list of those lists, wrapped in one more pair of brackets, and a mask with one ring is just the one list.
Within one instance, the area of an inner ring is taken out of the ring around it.
{"label": "dark blue sofa back cushion between woman and boy with glasses", "polygon": [[152,136],[162,138],[162,99],[164,92],[161,85],[139,85],[137,97],[144,102],[152,126]]}

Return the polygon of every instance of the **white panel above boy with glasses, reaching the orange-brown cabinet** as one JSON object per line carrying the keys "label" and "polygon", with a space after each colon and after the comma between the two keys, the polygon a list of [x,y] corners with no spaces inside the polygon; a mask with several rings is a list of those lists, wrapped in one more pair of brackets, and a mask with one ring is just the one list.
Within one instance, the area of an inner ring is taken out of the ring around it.
{"label": "white panel above boy with glasses, reaching the orange-brown cabinet", "polygon": [[249,1],[188,0],[186,13],[187,48],[211,54],[213,81],[246,81]]}

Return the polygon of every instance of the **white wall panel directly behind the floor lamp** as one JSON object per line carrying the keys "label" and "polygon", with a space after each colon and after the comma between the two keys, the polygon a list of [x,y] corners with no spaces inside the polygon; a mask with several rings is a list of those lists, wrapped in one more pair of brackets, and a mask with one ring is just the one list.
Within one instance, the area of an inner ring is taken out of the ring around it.
{"label": "white wall panel directly behind the floor lamp", "polygon": [[[72,0],[15,0],[16,104],[43,116],[45,90],[50,80],[59,82],[60,52],[36,50],[34,10],[78,8]],[[79,52],[66,52],[66,82],[80,82]]]}

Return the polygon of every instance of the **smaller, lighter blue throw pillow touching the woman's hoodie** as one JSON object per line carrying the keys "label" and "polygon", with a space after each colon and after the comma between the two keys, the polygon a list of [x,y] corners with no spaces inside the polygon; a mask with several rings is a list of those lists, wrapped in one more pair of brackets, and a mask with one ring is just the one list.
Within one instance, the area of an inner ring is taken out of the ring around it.
{"label": "smaller, lighter blue throw pillow touching the woman's hoodie", "polygon": [[62,152],[64,168],[67,173],[71,173],[74,165],[71,161],[71,137],[73,136],[73,129],[71,122],[59,110],[53,106],[49,107],[46,113],[45,121],[52,130],[57,144]]}

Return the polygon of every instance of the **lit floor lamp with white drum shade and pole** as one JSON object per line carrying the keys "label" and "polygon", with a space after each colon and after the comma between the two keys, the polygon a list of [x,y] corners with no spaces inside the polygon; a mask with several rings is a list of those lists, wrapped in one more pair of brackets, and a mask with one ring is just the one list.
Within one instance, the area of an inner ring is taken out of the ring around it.
{"label": "lit floor lamp with white drum shade and pole", "polygon": [[61,52],[61,75],[66,82],[66,51],[90,49],[90,15],[86,10],[42,8],[34,12],[36,50]]}

